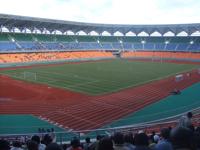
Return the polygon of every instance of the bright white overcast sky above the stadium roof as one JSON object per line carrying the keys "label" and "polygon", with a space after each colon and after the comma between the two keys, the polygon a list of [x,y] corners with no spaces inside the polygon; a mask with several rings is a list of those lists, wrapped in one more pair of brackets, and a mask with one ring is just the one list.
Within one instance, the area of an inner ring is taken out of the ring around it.
{"label": "bright white overcast sky above the stadium roof", "polygon": [[0,13],[90,23],[200,23],[200,0],[0,0]]}

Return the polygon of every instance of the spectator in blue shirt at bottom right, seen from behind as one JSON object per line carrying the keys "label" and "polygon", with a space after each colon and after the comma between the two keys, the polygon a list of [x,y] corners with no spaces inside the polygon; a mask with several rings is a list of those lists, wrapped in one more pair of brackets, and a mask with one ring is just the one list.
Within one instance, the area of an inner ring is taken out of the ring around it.
{"label": "spectator in blue shirt at bottom right, seen from behind", "polygon": [[161,139],[158,144],[155,145],[155,150],[173,150],[172,144],[170,142],[170,129],[161,129]]}

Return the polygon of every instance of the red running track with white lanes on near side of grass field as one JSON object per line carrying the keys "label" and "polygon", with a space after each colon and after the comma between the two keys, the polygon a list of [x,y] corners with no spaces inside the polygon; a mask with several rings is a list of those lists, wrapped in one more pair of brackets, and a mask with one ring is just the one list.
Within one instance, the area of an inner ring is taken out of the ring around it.
{"label": "red running track with white lanes on near side of grass field", "polygon": [[74,130],[96,129],[200,81],[197,72],[102,96],[88,96],[46,85],[0,77],[0,114],[33,114]]}

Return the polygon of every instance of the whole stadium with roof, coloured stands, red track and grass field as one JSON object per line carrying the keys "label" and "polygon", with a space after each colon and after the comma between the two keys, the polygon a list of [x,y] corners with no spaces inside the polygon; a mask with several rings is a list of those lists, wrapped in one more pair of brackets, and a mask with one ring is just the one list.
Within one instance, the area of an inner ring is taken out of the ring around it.
{"label": "whole stadium with roof, coloured stands, red track and grass field", "polygon": [[189,111],[199,125],[200,24],[0,14],[0,25],[0,137],[51,128],[62,142],[116,130],[150,133],[174,127]]}

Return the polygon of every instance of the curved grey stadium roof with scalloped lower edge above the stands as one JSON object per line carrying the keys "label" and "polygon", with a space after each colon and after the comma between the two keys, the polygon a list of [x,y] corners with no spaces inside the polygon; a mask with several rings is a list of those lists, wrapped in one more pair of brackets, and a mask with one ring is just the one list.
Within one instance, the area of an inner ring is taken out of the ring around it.
{"label": "curved grey stadium roof with scalloped lower edge above the stands", "polygon": [[96,23],[82,23],[73,21],[63,21],[63,20],[53,20],[44,18],[34,18],[34,17],[24,17],[16,15],[0,14],[0,26],[5,27],[8,30],[18,28],[20,31],[24,29],[34,30],[48,30],[61,31],[62,33],[66,31],[72,31],[77,33],[83,31],[86,34],[95,31],[98,34],[102,34],[104,31],[109,32],[113,35],[115,32],[121,32],[126,34],[128,32],[133,32],[138,35],[141,32],[146,32],[147,34],[152,34],[154,32],[159,32],[164,35],[167,32],[172,32],[175,35],[184,31],[188,35],[194,32],[200,32],[200,23],[195,24],[166,24],[166,25],[120,25],[120,24],[96,24]]}

